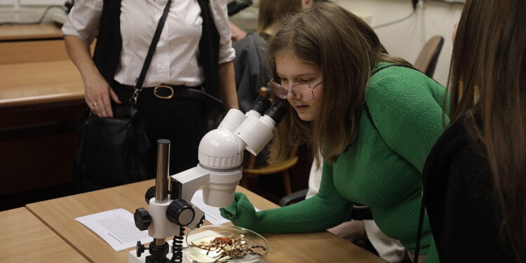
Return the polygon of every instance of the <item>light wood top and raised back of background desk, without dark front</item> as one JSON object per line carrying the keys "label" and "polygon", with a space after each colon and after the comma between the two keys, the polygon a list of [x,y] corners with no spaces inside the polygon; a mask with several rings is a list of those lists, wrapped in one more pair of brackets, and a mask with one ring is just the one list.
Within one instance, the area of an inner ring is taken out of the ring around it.
{"label": "light wood top and raised back of background desk, without dark front", "polygon": [[54,25],[0,26],[0,108],[83,99],[83,83]]}

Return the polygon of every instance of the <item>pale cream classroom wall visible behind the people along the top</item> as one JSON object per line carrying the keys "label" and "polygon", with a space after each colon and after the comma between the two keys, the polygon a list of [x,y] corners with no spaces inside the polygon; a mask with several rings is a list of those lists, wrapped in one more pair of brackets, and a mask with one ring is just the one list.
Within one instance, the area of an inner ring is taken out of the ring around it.
{"label": "pale cream classroom wall visible behind the people along the top", "polygon": [[[0,6],[13,5],[18,1],[21,8],[34,8],[42,11],[43,6],[64,4],[65,0],[0,0]],[[245,29],[254,29],[257,18],[257,4],[235,15],[232,20]],[[398,20],[412,11],[410,0],[333,0],[367,18],[366,21],[375,27],[385,22]],[[34,6],[38,4],[39,6]],[[376,29],[379,38],[389,53],[405,58],[409,62],[416,60],[419,50],[431,36],[444,36],[445,43],[438,58],[435,79],[443,85],[447,82],[452,52],[451,33],[453,25],[460,18],[462,4],[449,1],[421,0],[417,12],[409,19],[396,25]],[[36,13],[35,15],[38,15]],[[50,15],[48,15],[50,16]]]}

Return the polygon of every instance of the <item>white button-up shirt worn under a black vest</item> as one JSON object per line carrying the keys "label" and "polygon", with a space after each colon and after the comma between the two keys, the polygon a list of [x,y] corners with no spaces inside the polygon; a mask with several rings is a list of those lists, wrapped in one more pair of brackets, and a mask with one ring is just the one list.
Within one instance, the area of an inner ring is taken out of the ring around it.
{"label": "white button-up shirt worn under a black vest", "polygon": [[[62,27],[62,34],[92,43],[98,34],[103,0],[77,0]],[[151,39],[168,0],[122,0],[122,50],[115,81],[134,86],[148,53]],[[234,60],[227,0],[210,0],[210,11],[220,34],[219,62]],[[157,43],[144,87],[161,83],[198,86],[205,81],[198,63],[201,8],[197,0],[173,0]],[[111,84],[111,83],[110,83]]]}

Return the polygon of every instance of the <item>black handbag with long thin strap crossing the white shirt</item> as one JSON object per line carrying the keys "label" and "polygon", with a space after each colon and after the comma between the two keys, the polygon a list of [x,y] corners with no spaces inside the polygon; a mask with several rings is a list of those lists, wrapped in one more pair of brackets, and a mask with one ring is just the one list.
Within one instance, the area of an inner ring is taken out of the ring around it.
{"label": "black handbag with long thin strap crossing the white shirt", "polygon": [[157,25],[148,54],[130,102],[132,106],[114,107],[114,117],[100,118],[89,113],[83,121],[74,166],[76,191],[93,191],[155,177],[144,120],[134,107],[142,90],[151,58],[166,22],[172,0],[168,0]]}

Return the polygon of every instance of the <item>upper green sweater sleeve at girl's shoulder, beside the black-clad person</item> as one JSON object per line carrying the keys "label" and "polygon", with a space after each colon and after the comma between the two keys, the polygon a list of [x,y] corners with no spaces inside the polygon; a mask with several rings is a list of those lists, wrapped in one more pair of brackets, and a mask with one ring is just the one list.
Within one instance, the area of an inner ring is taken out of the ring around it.
{"label": "upper green sweater sleeve at girl's shoulder, beside the black-clad person", "polygon": [[372,119],[384,142],[422,173],[429,151],[449,122],[443,115],[445,89],[414,69],[391,67],[377,75],[366,98]]}

